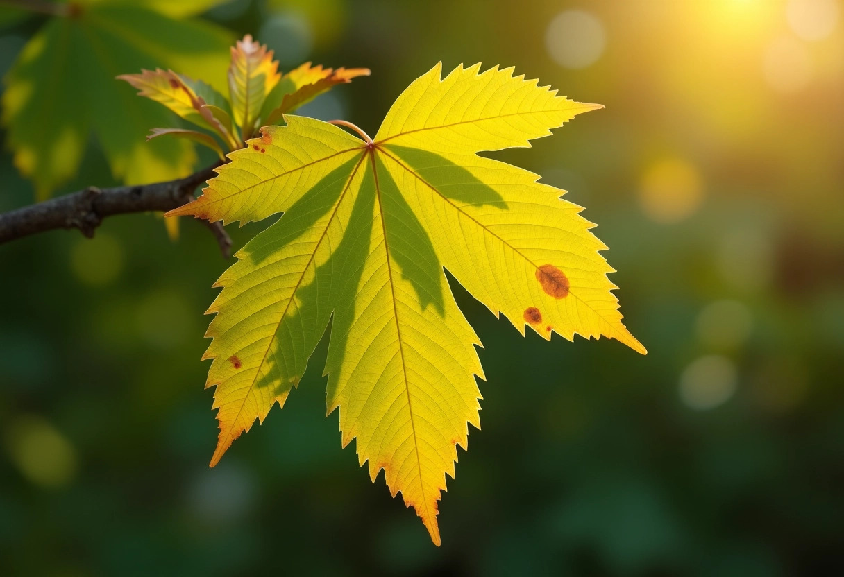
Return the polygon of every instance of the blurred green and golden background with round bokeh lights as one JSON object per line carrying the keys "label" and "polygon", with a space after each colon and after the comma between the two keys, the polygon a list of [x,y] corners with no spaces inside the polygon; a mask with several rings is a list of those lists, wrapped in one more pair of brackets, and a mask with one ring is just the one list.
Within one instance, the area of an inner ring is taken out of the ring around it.
{"label": "blurred green and golden background with round bokeh lights", "polygon": [[[489,380],[436,548],[340,449],[324,342],[208,468],[198,359],[227,263],[202,226],[173,243],[139,214],[0,245],[0,574],[844,574],[844,3],[205,4],[185,18],[256,35],[284,71],[370,67],[300,113],[371,134],[438,61],[606,105],[495,156],[587,207],[649,353],[522,338],[452,283]],[[50,20],[0,19],[0,71]],[[103,142],[68,152],[59,192],[118,182]],[[8,148],[0,181],[0,210],[34,202]]]}

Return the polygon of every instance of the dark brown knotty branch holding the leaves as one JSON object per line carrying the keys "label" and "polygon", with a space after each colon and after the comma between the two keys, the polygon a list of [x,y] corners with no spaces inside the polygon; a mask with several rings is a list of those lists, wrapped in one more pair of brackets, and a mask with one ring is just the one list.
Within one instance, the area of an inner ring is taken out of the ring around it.
{"label": "dark brown knotty branch holding the leaves", "polygon": [[[114,214],[165,212],[193,199],[193,191],[214,176],[214,166],[176,181],[156,182],[143,186],[115,186],[99,189],[89,186],[84,191],[38,202],[0,214],[0,244],[52,229],[79,229],[94,236],[102,219]],[[231,239],[223,225],[208,223],[220,251],[228,258]]]}

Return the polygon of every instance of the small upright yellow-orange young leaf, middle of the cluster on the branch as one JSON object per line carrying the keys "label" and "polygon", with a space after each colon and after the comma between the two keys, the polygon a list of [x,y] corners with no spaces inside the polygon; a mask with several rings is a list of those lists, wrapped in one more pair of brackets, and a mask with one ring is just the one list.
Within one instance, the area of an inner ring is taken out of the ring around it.
{"label": "small upright yellow-orange young leaf, middle of the cluster on the branch", "polygon": [[253,41],[251,35],[247,34],[231,48],[229,95],[235,122],[244,138],[252,136],[264,99],[279,83],[278,68],[273,51]]}

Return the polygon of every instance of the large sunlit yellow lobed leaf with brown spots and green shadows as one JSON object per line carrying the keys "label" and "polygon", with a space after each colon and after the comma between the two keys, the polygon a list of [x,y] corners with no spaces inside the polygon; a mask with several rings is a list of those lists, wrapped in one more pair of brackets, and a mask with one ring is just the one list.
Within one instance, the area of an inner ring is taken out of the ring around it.
{"label": "large sunlit yellow lobed leaf with brown spots and green shadows", "polygon": [[606,248],[560,191],[481,151],[529,147],[600,108],[497,67],[441,66],[392,105],[376,138],[300,116],[230,154],[203,195],[170,214],[245,223],[284,212],[215,284],[208,309],[219,443],[211,464],[274,402],[284,405],[333,316],[327,411],[384,469],[440,543],[437,502],[456,445],[479,427],[478,337],[451,272],[495,315],[549,339],[614,337],[621,323]]}

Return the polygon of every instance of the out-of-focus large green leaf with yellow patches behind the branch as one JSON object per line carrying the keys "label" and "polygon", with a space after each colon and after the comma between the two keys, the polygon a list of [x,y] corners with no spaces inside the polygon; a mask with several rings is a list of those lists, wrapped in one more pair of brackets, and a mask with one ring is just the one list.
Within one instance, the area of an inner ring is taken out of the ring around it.
{"label": "out-of-focus large green leaf with yellow patches behind the branch", "polygon": [[212,24],[179,22],[133,6],[92,3],[73,18],[50,19],[4,79],[3,124],[18,169],[51,194],[78,170],[93,132],[114,175],[129,184],[190,173],[192,146],[146,143],[172,116],[116,81],[142,67],[174,67],[225,85],[230,35]]}

